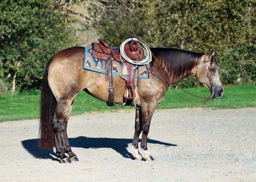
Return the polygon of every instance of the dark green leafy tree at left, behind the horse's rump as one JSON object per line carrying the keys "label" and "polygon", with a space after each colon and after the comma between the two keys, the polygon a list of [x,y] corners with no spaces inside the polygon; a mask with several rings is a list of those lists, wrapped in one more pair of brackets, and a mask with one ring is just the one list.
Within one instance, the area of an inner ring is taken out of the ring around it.
{"label": "dark green leafy tree at left, behind the horse's rump", "polygon": [[49,0],[0,1],[0,79],[7,86],[15,79],[18,89],[38,87],[46,61],[71,40],[66,16]]}

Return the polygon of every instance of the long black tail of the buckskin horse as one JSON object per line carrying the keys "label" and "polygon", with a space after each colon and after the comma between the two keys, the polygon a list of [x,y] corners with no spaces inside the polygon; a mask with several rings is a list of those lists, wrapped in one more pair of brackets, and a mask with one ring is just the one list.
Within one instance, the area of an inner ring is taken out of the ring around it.
{"label": "long black tail of the buckskin horse", "polygon": [[40,126],[39,126],[39,146],[42,148],[55,147],[54,131],[52,127],[52,119],[56,109],[56,98],[54,97],[48,84],[48,69],[52,58],[47,62],[45,67],[45,75],[43,80],[43,87],[41,91],[40,104]]}

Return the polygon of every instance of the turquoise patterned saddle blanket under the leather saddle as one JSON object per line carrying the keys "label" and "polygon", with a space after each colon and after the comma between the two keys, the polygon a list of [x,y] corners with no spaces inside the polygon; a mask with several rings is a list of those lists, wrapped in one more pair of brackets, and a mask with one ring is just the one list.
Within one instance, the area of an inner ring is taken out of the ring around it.
{"label": "turquoise patterned saddle blanket under the leather saddle", "polygon": [[[113,60],[113,75],[120,76],[121,71],[121,62]],[[148,65],[150,67],[150,65]],[[96,59],[92,56],[92,46],[88,45],[85,47],[85,60],[84,60],[84,69],[90,71],[96,71],[98,73],[107,74],[105,60]],[[139,71],[139,75],[138,75]],[[139,69],[136,69],[135,78],[148,78],[147,69],[144,66],[139,66]]]}

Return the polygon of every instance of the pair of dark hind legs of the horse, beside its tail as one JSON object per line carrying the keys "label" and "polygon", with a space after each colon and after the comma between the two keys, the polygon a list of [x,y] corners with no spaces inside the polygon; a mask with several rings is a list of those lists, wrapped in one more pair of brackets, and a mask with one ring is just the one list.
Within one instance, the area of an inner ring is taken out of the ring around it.
{"label": "pair of dark hind legs of the horse, beside its tail", "polygon": [[[71,160],[78,161],[78,158],[71,150],[67,137],[67,122],[72,110],[72,100],[58,100],[52,121],[55,133],[56,153],[59,154],[61,157],[60,162],[63,163],[71,162]],[[69,157],[67,157],[65,153],[67,153]]]}

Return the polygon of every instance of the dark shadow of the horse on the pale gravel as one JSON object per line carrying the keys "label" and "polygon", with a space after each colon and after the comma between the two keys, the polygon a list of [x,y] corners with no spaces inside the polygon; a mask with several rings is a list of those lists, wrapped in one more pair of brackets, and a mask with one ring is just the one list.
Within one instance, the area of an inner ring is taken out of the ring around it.
{"label": "dark shadow of the horse on the pale gravel", "polygon": [[[79,136],[76,138],[69,138],[70,146],[81,147],[85,149],[89,148],[111,148],[117,153],[121,154],[124,158],[134,158],[133,155],[126,149],[128,144],[132,143],[132,139],[127,138],[89,138],[85,136]],[[140,142],[140,140],[139,140]],[[22,146],[35,158],[47,159],[59,161],[59,155],[54,153],[52,149],[41,149],[38,146],[38,139],[23,140]],[[164,146],[177,146],[174,144],[169,144],[165,142],[160,142],[158,140],[148,139],[148,143],[151,144],[161,144]],[[56,158],[54,158],[55,156]]]}

